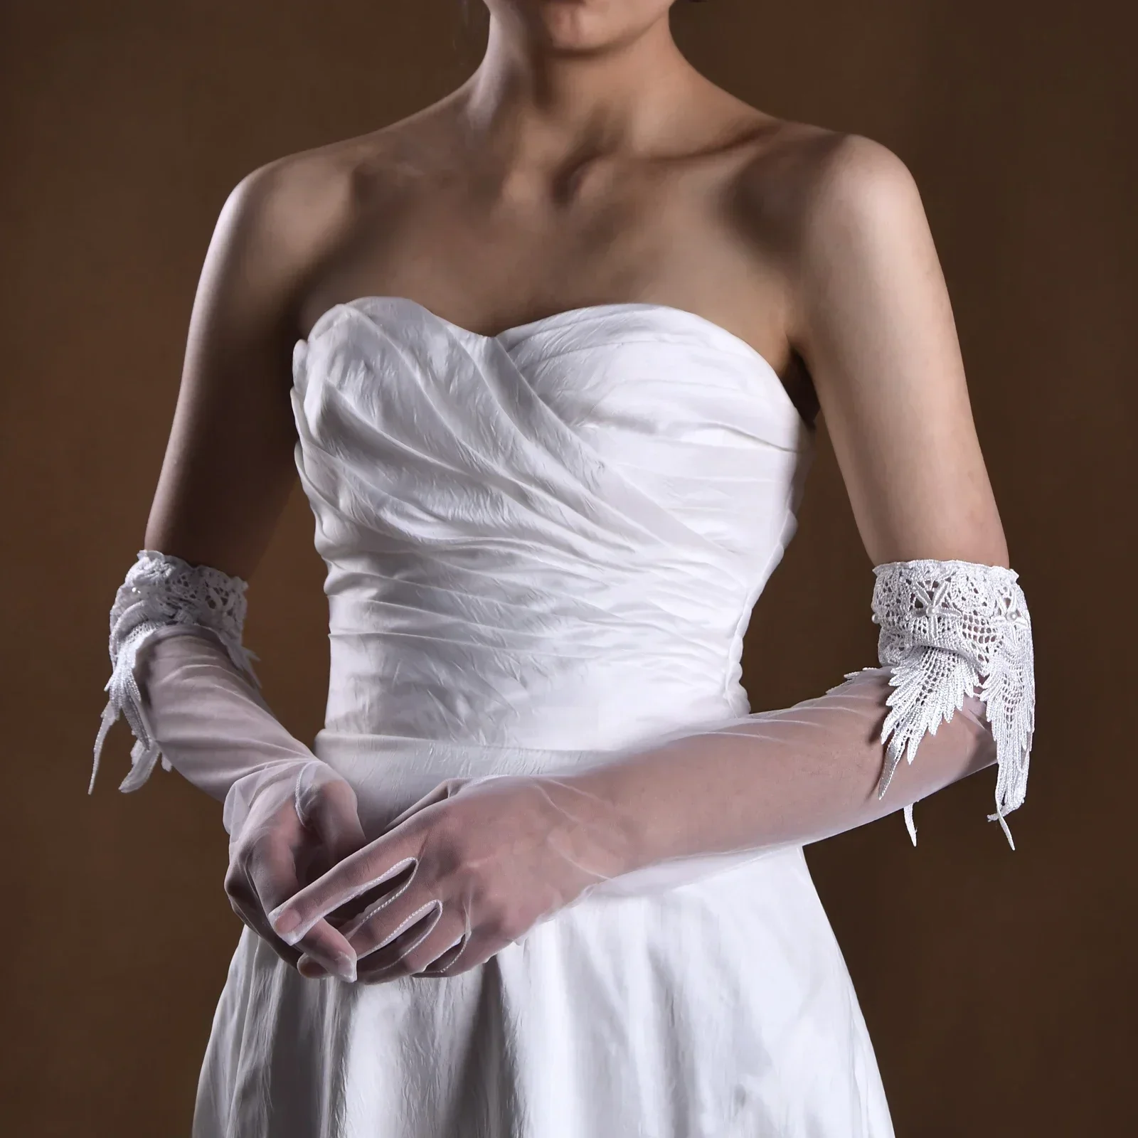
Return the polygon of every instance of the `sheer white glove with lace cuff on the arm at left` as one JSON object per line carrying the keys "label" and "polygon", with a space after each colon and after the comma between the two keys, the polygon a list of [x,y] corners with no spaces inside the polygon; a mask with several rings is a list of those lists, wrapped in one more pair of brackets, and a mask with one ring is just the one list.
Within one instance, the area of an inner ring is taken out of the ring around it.
{"label": "sheer white glove with lace cuff on the arm at left", "polygon": [[[126,717],[134,791],[158,760],[223,802],[225,890],[241,920],[290,963],[266,913],[363,844],[352,786],[284,729],[241,643],[246,584],[154,550],[139,552],[110,611],[112,676],[94,744]],[[256,855],[256,856],[255,856]],[[335,957],[329,971],[351,966]]]}

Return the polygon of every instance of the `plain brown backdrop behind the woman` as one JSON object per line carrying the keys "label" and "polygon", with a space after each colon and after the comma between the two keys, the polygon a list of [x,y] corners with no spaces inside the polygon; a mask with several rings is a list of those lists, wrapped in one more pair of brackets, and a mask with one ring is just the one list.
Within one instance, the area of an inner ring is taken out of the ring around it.
{"label": "plain brown backdrop behind the woman", "polygon": [[[675,11],[677,39],[714,80],[776,114],[876,138],[917,175],[1034,618],[1039,723],[1031,793],[1012,816],[1017,851],[984,820],[995,770],[917,808],[916,850],[899,815],[809,850],[899,1136],[1122,1135],[1138,1122],[1124,489],[1138,28],[1122,10],[714,0]],[[116,793],[125,731],[85,794],[106,615],[142,542],[217,211],[261,163],[451,90],[479,58],[480,27],[463,27],[459,0],[0,5],[13,1132],[188,1133],[239,930],[215,802],[163,773]],[[297,497],[248,627],[271,701],[306,739],[327,675],[311,538]],[[748,637],[756,709],[873,662],[869,570],[823,445]]]}

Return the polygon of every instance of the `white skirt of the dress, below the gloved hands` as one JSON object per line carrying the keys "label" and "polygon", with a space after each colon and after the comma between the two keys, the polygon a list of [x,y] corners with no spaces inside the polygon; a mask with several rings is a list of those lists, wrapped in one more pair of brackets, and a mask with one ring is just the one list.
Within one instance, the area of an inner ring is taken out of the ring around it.
{"label": "white skirt of the dress, below the gloved hands", "polygon": [[[336,761],[333,750],[325,742],[321,757]],[[446,776],[448,761],[431,769],[439,753],[432,744],[424,761],[421,744],[405,749],[396,766],[414,770],[414,785],[401,800]],[[849,972],[794,846],[666,890],[589,894],[451,978],[306,980],[246,929],[214,1016],[192,1135],[893,1130]]]}

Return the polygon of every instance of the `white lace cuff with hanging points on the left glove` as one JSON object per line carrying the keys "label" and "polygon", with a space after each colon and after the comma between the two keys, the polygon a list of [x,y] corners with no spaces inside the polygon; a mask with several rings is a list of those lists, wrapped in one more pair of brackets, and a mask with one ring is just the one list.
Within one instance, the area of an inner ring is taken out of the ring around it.
{"label": "white lace cuff with hanging points on the left glove", "polygon": [[138,790],[150,777],[159,758],[166,770],[171,768],[147,723],[142,694],[134,678],[139,649],[159,629],[175,625],[207,629],[221,641],[233,663],[257,684],[253,671],[256,657],[241,644],[245,589],[246,583],[240,577],[230,577],[220,569],[191,566],[156,550],[139,551],[138,561],[118,587],[110,609],[112,673],[104,688],[110,698],[94,741],[94,766],[88,793],[94,790],[102,744],[119,714],[131,725],[135,743],[131,749],[130,774],[118,789]]}

